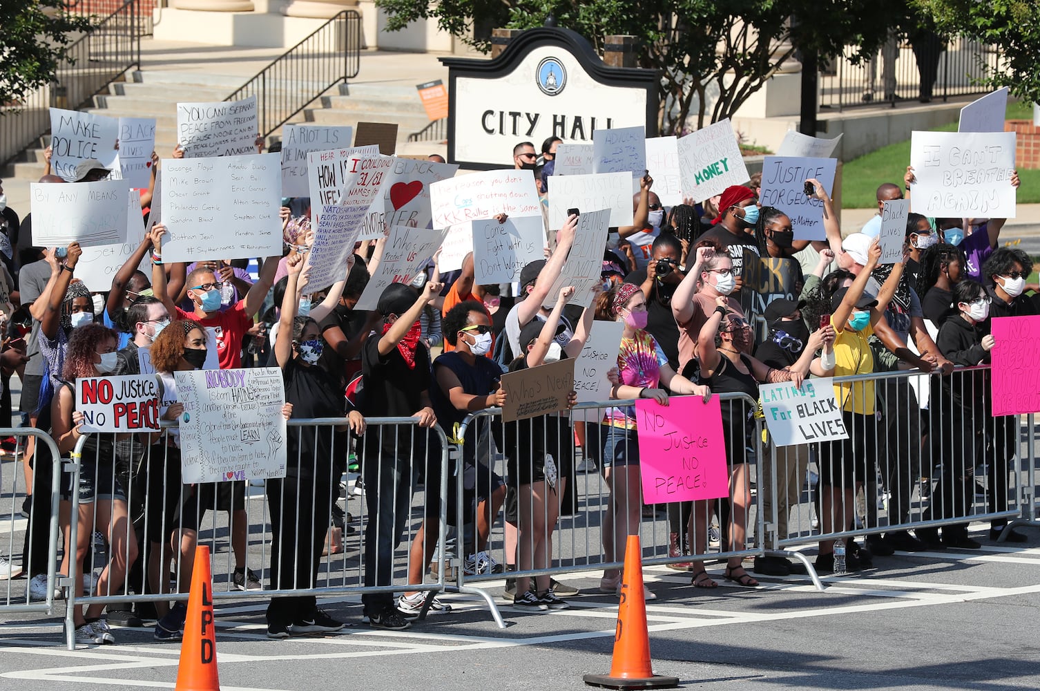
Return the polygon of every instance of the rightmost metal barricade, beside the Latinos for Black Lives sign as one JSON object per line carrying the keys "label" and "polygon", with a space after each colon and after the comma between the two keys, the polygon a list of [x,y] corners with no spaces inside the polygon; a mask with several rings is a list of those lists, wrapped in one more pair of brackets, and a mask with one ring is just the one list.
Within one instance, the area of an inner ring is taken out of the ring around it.
{"label": "rightmost metal barricade, beside the Latinos for Black Lives sign", "polygon": [[[804,561],[788,547],[907,530],[933,542],[941,531],[956,546],[970,521],[1036,524],[1033,416],[1024,443],[1020,416],[991,416],[989,367],[834,382],[849,386],[838,395],[839,407],[842,395],[867,403],[873,384],[874,419],[857,418],[850,427],[847,418],[851,438],[844,445],[771,444],[768,491],[775,501],[766,507],[766,554]],[[855,450],[852,461],[849,449]],[[809,572],[822,588],[814,569]]]}

